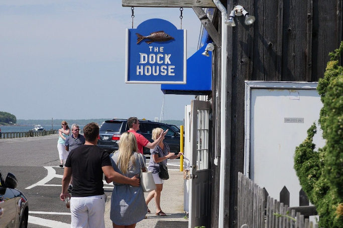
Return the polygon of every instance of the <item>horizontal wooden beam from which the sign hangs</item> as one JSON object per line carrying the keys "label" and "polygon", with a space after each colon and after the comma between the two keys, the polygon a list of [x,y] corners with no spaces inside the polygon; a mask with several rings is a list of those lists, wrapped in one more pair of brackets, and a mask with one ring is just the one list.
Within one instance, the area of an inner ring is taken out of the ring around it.
{"label": "horizontal wooden beam from which the sign hangs", "polygon": [[212,0],[122,0],[123,7],[215,8]]}

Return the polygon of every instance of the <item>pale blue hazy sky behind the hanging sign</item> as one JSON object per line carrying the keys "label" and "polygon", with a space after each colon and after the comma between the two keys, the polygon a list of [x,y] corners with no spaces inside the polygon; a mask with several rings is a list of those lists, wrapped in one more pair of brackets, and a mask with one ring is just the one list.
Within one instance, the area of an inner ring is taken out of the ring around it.
{"label": "pale blue hazy sky behind the hanging sign", "polygon": [[[179,8],[135,8],[134,28],[152,18],[180,29]],[[121,0],[0,1],[0,111],[17,119],[137,116],[184,119],[194,96],[163,95],[159,84],[125,84],[130,7]],[[201,23],[184,8],[187,58]]]}

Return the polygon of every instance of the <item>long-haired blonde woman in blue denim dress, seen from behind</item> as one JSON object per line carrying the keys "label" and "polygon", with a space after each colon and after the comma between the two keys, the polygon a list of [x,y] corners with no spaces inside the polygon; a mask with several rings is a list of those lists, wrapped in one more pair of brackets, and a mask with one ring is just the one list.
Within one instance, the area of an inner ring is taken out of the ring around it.
{"label": "long-haired blonde woman in blue denim dress, seen from behind", "polygon": [[[131,132],[125,132],[119,140],[119,150],[110,155],[113,169],[129,178],[146,171],[143,155],[138,153],[136,137]],[[105,178],[107,181],[107,178]],[[108,181],[107,181],[108,183]],[[136,223],[145,218],[147,206],[144,200],[143,188],[120,184],[115,185],[111,197],[109,218],[113,228],[134,228]]]}

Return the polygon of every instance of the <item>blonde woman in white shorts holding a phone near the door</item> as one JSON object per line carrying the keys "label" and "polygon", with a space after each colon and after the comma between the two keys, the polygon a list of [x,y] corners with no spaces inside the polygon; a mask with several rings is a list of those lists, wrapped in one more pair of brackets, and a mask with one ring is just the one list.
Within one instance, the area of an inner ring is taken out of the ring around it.
{"label": "blonde woman in white shorts holding a phone near the door", "polygon": [[[155,128],[153,129],[152,132],[152,139],[155,141],[158,139],[163,132],[162,128]],[[159,172],[160,172],[160,162],[164,163],[167,165],[167,159],[175,159],[177,157],[181,156],[181,152],[178,154],[174,154],[170,152],[169,146],[167,143],[163,142],[164,137],[160,141],[160,143],[154,148],[150,149],[151,153],[151,158],[150,158],[150,163],[149,163],[149,171],[152,171],[153,177],[154,177],[154,182],[156,184],[156,189],[154,191],[149,192],[147,198],[145,199],[145,203],[148,204],[152,198],[155,198],[155,203],[156,203],[156,214],[160,216],[166,216],[166,213],[162,211],[161,209],[161,191],[163,188],[163,183],[164,180],[162,180],[159,177]],[[150,213],[150,210],[148,208],[148,213]]]}

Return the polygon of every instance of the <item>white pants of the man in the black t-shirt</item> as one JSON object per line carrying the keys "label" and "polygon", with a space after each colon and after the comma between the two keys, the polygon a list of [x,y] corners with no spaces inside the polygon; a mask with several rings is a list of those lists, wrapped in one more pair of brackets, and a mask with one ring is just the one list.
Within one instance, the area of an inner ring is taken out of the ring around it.
{"label": "white pants of the man in the black t-shirt", "polygon": [[70,198],[72,228],[104,228],[105,194]]}

